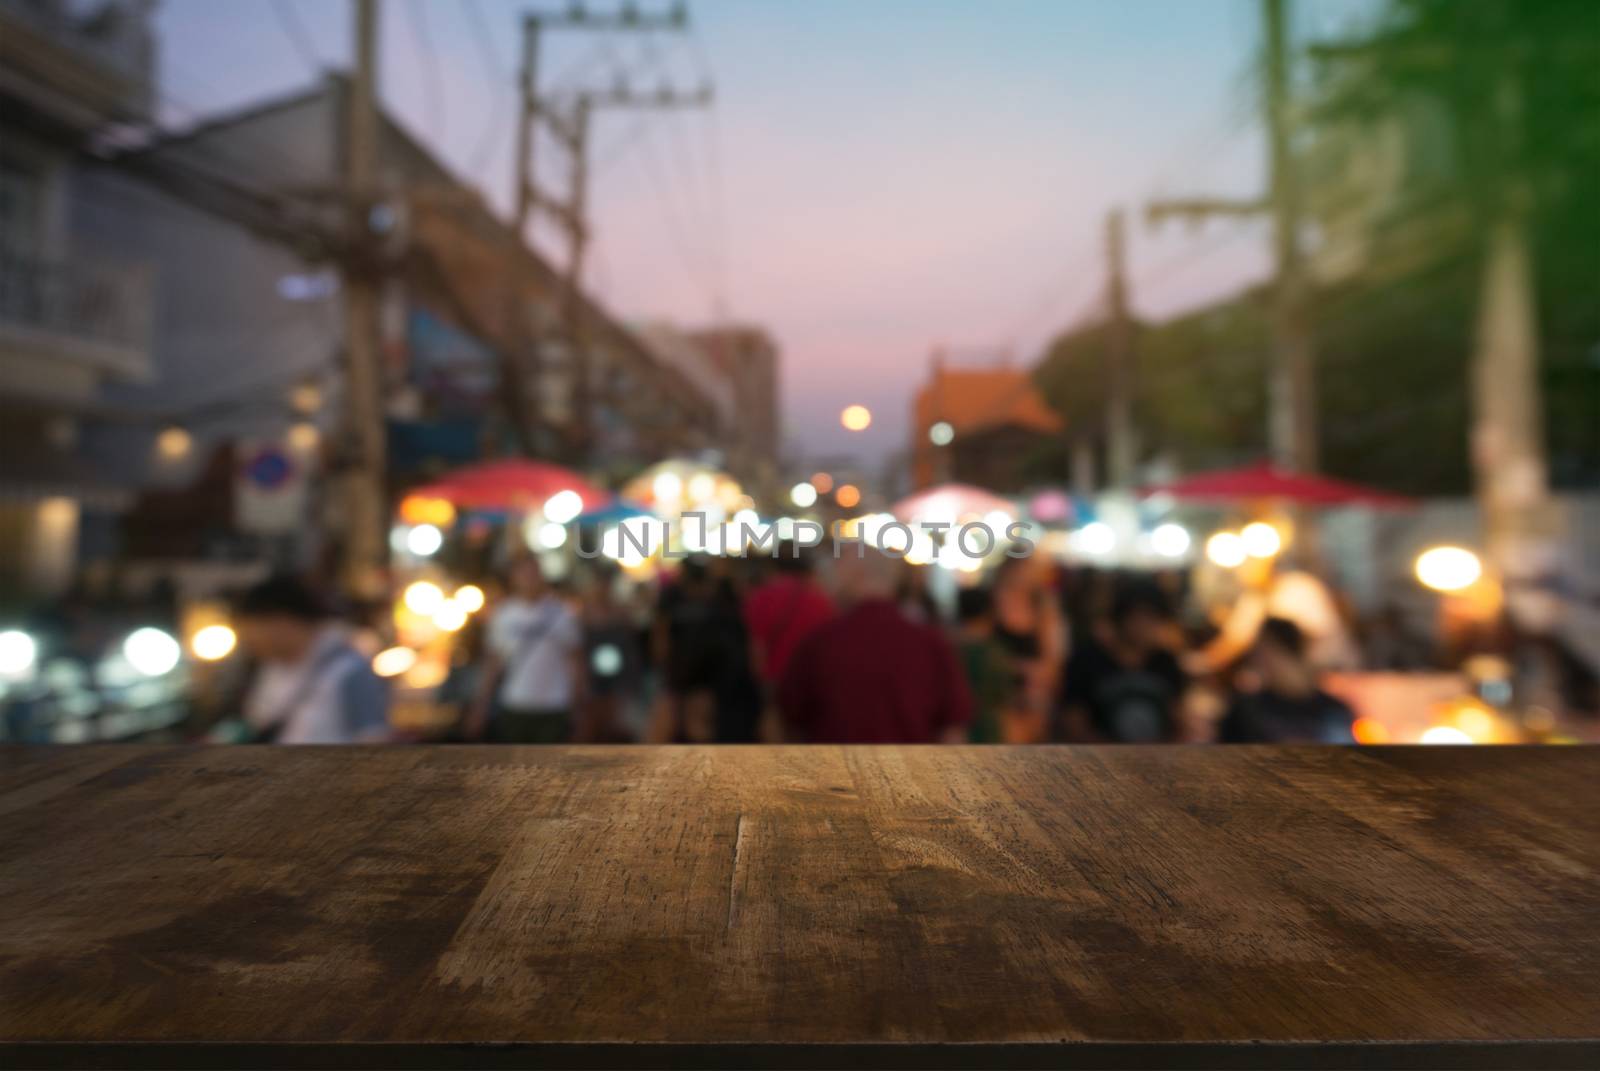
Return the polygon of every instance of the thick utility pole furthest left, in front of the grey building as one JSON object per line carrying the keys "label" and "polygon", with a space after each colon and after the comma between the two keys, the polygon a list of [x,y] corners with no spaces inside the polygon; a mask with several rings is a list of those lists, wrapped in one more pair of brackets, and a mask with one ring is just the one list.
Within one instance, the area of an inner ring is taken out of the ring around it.
{"label": "thick utility pole furthest left, in front of the grey building", "polygon": [[378,199],[378,0],[355,5],[355,69],[346,115],[346,426],[344,560],[341,581],[374,596],[387,560],[387,487],[382,360],[378,322],[378,256],[371,210]]}

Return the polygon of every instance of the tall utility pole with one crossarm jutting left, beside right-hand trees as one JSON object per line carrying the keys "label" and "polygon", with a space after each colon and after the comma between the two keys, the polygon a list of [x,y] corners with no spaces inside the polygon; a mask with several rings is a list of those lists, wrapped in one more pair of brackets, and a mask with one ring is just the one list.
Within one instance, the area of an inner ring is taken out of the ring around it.
{"label": "tall utility pole with one crossarm jutting left, beside right-hand trees", "polygon": [[1286,0],[1261,0],[1266,37],[1266,91],[1262,115],[1267,128],[1267,199],[1232,202],[1219,199],[1170,200],[1149,205],[1147,216],[1160,223],[1170,216],[1206,219],[1211,216],[1272,218],[1275,256],[1272,311],[1272,368],[1267,379],[1267,440],[1272,461],[1291,472],[1315,472],[1317,448],[1317,368],[1310,333],[1309,283],[1299,243],[1301,192],[1294,166],[1290,118],[1290,45]]}

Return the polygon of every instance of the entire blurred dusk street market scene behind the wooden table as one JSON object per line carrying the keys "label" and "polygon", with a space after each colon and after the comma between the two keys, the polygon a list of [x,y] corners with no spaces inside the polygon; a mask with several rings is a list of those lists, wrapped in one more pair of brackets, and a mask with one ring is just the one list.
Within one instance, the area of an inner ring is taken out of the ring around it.
{"label": "entire blurred dusk street market scene behind the wooden table", "polygon": [[0,741],[1600,741],[1594,6],[816,11],[0,0]]}

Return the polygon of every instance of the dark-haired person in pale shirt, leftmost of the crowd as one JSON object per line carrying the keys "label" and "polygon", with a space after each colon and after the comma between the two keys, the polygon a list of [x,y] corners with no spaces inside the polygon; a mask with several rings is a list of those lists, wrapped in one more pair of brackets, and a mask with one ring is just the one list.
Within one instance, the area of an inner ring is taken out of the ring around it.
{"label": "dark-haired person in pale shirt, leftmost of the crowd", "polygon": [[251,743],[352,744],[389,740],[389,693],[347,631],[298,580],[256,584],[234,612],[259,660],[245,696]]}

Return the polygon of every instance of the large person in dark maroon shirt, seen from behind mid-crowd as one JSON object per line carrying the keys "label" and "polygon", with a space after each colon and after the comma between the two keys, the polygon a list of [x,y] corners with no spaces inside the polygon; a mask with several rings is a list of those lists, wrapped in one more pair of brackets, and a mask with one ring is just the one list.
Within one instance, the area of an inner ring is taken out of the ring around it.
{"label": "large person in dark maroon shirt, seen from behind mid-crowd", "polygon": [[848,549],[835,575],[845,612],[789,656],[778,703],[790,736],[837,744],[962,743],[973,716],[955,650],[894,604],[893,559]]}

